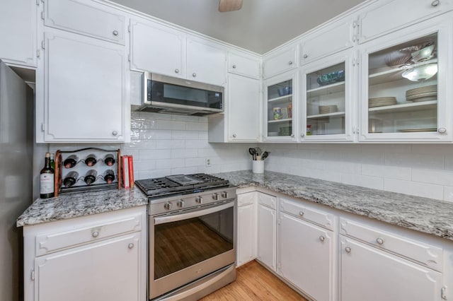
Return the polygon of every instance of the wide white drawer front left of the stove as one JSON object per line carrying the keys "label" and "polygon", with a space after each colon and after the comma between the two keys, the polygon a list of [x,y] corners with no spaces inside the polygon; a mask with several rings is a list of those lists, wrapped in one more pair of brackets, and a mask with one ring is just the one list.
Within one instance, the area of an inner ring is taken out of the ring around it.
{"label": "wide white drawer front left of the stove", "polygon": [[142,230],[142,216],[129,216],[122,219],[106,220],[80,228],[69,228],[62,232],[53,232],[36,237],[36,256],[54,252],[58,249],[103,240],[107,237]]}

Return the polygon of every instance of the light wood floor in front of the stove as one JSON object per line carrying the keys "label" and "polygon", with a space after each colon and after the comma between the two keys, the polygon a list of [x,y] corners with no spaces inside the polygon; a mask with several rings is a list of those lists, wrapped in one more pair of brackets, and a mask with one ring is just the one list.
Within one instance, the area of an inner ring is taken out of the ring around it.
{"label": "light wood floor in front of the stove", "polygon": [[236,281],[207,295],[200,301],[277,300],[307,301],[256,261],[236,270]]}

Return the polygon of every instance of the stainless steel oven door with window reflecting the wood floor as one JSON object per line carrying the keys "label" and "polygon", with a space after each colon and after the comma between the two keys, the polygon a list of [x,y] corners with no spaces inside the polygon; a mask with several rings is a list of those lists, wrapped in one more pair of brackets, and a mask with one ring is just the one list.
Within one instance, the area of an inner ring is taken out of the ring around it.
{"label": "stainless steel oven door with window reflecting the wood floor", "polygon": [[150,216],[149,298],[235,262],[234,199]]}

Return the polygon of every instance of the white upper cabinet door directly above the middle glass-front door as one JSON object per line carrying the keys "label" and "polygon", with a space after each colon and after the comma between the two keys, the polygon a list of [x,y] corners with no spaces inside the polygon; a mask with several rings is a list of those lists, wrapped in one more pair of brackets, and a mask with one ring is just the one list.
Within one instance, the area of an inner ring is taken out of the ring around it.
{"label": "white upper cabinet door directly above the middle glass-front door", "polygon": [[[321,59],[355,45],[357,20],[343,18],[302,39],[301,64]],[[328,42],[326,42],[328,41]]]}

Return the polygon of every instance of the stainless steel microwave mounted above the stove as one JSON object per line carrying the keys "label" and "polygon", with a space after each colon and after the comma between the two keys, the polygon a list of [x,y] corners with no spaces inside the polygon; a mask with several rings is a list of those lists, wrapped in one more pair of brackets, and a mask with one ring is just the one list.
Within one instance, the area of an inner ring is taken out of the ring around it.
{"label": "stainless steel microwave mounted above the stove", "polygon": [[223,112],[224,87],[144,72],[139,110],[196,116]]}

